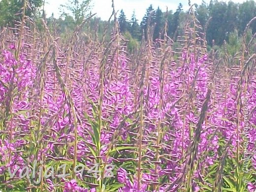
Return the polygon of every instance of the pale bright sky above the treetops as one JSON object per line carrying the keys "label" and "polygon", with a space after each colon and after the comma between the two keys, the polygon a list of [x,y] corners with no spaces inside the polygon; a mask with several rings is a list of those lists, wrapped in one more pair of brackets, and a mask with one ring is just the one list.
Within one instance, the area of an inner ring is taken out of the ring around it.
{"label": "pale bright sky above the treetops", "polygon": [[[51,16],[54,13],[55,17],[60,16],[59,7],[61,4],[67,4],[69,0],[46,0],[45,10],[47,16]],[[206,3],[209,3],[210,0],[204,0]],[[226,1],[226,0],[224,0]],[[232,0],[233,2],[243,2],[244,0]],[[114,0],[115,10],[118,11],[118,16],[120,10],[123,9],[127,19],[131,18],[133,11],[135,11],[136,18],[141,21],[143,16],[146,13],[146,9],[150,4],[153,5],[154,9],[157,9],[158,6],[162,11],[168,10],[175,11],[179,3],[182,3],[183,9],[189,9],[188,0]],[[191,0],[191,3],[201,4],[202,0]],[[226,1],[227,2],[227,1]],[[112,14],[112,0],[92,0],[91,5],[92,13],[96,13],[98,17],[102,20],[108,20]]]}

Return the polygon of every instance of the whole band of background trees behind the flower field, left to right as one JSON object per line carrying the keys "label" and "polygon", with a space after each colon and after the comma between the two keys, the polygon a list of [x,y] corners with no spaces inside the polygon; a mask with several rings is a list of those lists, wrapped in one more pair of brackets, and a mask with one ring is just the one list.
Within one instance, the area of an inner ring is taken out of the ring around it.
{"label": "whole band of background trees behind the flower field, left to right", "polygon": [[[64,11],[60,18],[55,18],[54,15],[46,18],[44,11],[40,11],[43,10],[43,0],[29,1],[32,6],[31,10],[27,11],[28,17],[35,20],[40,17],[44,18],[49,29],[59,34],[74,30],[82,21],[82,18],[90,11],[90,0],[84,0],[84,4],[78,4],[78,0],[74,0],[72,6],[65,7],[65,5],[62,5],[62,7],[67,8],[66,10],[69,10],[72,14],[67,14],[67,11]],[[19,20],[17,13],[22,11],[21,6],[22,2],[20,0],[2,0],[0,2],[0,26],[13,26],[13,21]],[[208,46],[221,46],[224,43],[230,43],[230,41],[238,41],[248,22],[256,16],[256,2],[254,0],[247,0],[243,3],[232,1],[226,3],[211,0],[209,4],[202,1],[200,5],[194,4],[193,9],[196,23],[201,26],[202,33],[206,34]],[[140,42],[142,38],[147,38],[147,26],[150,29],[154,29],[153,40],[155,40],[160,35],[163,35],[162,30],[167,21],[167,35],[175,41],[184,32],[185,25],[188,23],[187,21],[193,20],[192,14],[188,14],[189,10],[183,10],[181,3],[177,5],[175,11],[161,10],[160,7],[153,7],[152,5],[145,11],[145,16],[140,23],[135,12],[131,18],[127,18],[124,10],[118,12],[116,18],[119,22],[120,32],[128,40]],[[100,18],[94,17],[89,23],[87,28],[85,28],[85,32],[93,34],[95,32],[95,26],[97,26],[98,35],[103,35],[107,21],[102,21]],[[112,31],[113,26],[114,22],[111,21],[109,33]],[[252,24],[251,32],[252,35],[255,34],[256,23]],[[107,35],[110,36],[110,34]]]}

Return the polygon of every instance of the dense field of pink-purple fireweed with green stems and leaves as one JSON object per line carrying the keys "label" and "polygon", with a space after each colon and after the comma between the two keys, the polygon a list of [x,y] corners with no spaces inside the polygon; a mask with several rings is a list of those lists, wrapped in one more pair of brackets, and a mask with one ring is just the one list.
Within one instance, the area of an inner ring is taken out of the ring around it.
{"label": "dense field of pink-purple fireweed with green stems and leaves", "polygon": [[235,56],[193,12],[128,53],[117,22],[60,38],[24,11],[0,32],[0,191],[255,192],[254,20]]}

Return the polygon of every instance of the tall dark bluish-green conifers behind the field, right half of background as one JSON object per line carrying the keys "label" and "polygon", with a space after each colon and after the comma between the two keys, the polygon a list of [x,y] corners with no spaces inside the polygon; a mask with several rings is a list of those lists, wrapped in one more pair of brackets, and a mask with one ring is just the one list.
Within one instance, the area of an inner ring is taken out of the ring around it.
{"label": "tall dark bluish-green conifers behind the field, right half of background", "polygon": [[[225,41],[229,41],[229,36],[233,32],[241,35],[248,22],[256,16],[256,2],[247,0],[243,3],[235,3],[233,1],[224,2],[211,0],[209,4],[202,1],[200,5],[195,4],[195,16],[199,21],[202,29],[205,29],[208,44],[222,45]],[[188,19],[188,14],[184,12],[182,4],[179,3],[175,12],[163,12],[160,7],[154,9],[150,5],[142,18],[141,23],[133,13],[130,20],[127,19],[125,12],[121,10],[118,18],[120,31],[129,32],[133,38],[140,40],[144,35],[147,37],[147,26],[154,26],[153,38],[159,37],[161,30],[164,28],[165,20],[168,21],[167,34],[173,39],[181,35],[184,24]],[[253,34],[256,32],[256,23],[252,25]]]}

